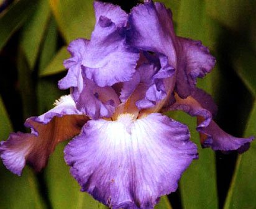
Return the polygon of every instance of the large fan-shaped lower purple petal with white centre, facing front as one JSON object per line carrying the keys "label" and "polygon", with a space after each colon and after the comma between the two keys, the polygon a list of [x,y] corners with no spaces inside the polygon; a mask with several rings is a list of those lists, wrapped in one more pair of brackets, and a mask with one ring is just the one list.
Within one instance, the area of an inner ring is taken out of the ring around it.
{"label": "large fan-shaped lower purple petal with white centre, facing front", "polygon": [[91,120],[65,148],[81,190],[113,209],[153,208],[173,192],[197,148],[188,128],[160,113]]}

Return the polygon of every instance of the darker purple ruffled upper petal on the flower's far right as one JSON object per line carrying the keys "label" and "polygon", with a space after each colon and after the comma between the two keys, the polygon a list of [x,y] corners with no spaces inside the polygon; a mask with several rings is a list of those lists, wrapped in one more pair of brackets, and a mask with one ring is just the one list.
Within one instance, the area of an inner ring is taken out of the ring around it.
{"label": "darker purple ruffled upper petal on the flower's far right", "polygon": [[195,91],[196,79],[203,78],[209,73],[216,60],[200,41],[179,37],[178,42],[180,42],[180,47],[177,52],[179,61],[176,91],[181,98],[185,99]]}

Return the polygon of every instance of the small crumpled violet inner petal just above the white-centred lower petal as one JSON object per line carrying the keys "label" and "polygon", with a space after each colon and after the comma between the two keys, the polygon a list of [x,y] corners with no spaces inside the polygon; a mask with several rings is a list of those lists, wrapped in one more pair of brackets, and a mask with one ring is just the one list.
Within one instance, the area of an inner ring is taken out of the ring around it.
{"label": "small crumpled violet inner petal just above the white-centred lower petal", "polygon": [[144,62],[139,61],[140,65],[133,78],[124,82],[121,91],[121,100],[125,102],[129,98],[129,102],[134,101],[139,110],[153,107],[167,96],[164,80],[171,78],[175,73],[175,69],[168,64],[164,55],[150,55],[144,52],[141,57],[140,60]]}

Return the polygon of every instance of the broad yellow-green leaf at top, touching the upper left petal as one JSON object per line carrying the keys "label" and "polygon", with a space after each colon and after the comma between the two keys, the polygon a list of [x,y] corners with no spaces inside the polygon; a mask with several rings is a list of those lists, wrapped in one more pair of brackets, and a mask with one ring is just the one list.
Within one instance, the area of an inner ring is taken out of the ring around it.
{"label": "broad yellow-green leaf at top, touching the upper left petal", "polygon": [[89,38],[94,29],[93,0],[49,0],[60,32],[66,43],[76,38]]}

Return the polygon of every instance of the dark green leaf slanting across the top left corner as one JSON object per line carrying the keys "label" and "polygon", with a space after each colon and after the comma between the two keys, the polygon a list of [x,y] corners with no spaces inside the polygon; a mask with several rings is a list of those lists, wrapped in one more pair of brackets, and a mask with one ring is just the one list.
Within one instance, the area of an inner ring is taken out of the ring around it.
{"label": "dark green leaf slanting across the top left corner", "polygon": [[21,0],[12,4],[7,12],[0,15],[0,50],[12,34],[19,29],[25,20],[35,11],[37,1]]}

